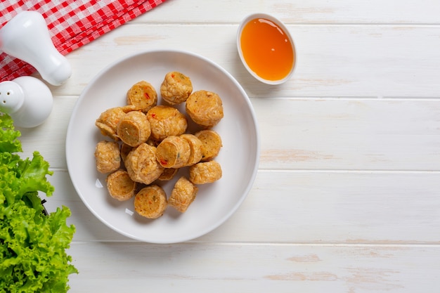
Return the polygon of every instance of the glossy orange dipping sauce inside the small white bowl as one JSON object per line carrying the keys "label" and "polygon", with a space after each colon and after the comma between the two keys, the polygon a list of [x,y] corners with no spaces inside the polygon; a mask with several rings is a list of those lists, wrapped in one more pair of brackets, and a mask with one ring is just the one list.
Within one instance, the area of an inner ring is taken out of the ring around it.
{"label": "glossy orange dipping sauce inside the small white bowl", "polygon": [[283,79],[295,65],[289,37],[271,20],[255,18],[247,22],[241,32],[240,46],[247,66],[262,79]]}

